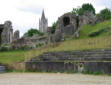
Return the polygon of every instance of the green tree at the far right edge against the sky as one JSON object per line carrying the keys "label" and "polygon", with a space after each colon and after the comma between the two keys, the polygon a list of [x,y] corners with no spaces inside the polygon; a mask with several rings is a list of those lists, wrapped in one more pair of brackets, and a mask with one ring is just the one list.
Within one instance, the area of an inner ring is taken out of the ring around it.
{"label": "green tree at the far right edge against the sky", "polygon": [[102,16],[103,20],[109,20],[111,19],[111,10],[108,8],[105,8],[100,11],[100,15]]}

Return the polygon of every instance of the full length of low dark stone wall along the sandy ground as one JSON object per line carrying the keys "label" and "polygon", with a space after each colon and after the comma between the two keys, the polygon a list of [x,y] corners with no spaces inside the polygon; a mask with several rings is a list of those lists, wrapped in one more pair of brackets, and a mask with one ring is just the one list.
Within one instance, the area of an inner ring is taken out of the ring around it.
{"label": "full length of low dark stone wall along the sandy ground", "polygon": [[99,72],[111,74],[111,62],[27,62],[26,68],[29,71],[38,72]]}

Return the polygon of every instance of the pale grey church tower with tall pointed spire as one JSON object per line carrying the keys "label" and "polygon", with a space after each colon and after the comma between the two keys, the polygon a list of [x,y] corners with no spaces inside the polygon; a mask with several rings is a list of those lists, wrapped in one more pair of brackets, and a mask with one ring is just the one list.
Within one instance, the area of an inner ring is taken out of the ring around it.
{"label": "pale grey church tower with tall pointed spire", "polygon": [[44,10],[42,11],[42,17],[39,19],[39,31],[40,32],[47,32],[48,29],[48,20],[45,17]]}

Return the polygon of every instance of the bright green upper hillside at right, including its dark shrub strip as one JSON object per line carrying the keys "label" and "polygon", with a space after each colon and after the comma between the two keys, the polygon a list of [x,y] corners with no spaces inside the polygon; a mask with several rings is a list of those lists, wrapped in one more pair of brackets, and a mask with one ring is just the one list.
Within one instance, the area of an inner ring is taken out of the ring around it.
{"label": "bright green upper hillside at right, including its dark shrub strip", "polygon": [[95,25],[84,25],[79,30],[79,34],[80,34],[80,39],[88,37],[110,36],[111,20],[104,21]]}

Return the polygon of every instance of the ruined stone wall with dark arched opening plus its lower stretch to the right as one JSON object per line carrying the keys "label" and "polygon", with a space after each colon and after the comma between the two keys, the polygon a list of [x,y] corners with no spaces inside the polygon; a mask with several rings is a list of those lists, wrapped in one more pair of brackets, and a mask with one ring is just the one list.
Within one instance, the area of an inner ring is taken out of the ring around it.
{"label": "ruined stone wall with dark arched opening plus its lower stretch to the right", "polygon": [[78,29],[81,28],[83,24],[94,25],[95,21],[95,16],[89,11],[86,11],[82,16],[66,13],[58,18],[54,40],[58,42],[70,35],[79,37]]}

